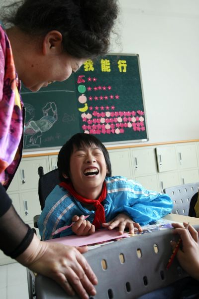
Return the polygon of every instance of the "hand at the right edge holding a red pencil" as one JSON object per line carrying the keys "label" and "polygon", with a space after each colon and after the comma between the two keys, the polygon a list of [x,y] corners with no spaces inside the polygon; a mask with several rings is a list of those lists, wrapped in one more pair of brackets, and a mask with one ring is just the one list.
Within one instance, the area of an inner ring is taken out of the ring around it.
{"label": "hand at the right edge holding a red pencil", "polygon": [[[174,233],[179,234],[183,242],[183,249],[179,249],[177,258],[182,268],[187,271],[192,277],[199,280],[199,233],[192,225],[188,229],[178,223],[172,223],[175,228]],[[176,242],[171,242],[172,247],[176,246]]]}

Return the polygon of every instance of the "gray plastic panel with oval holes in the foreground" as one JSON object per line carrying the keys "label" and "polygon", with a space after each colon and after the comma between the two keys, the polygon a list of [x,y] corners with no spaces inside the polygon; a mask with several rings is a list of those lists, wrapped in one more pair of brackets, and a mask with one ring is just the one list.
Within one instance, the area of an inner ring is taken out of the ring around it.
{"label": "gray plastic panel with oval holes in the foreground", "polygon": [[[195,226],[199,229],[199,225]],[[97,295],[91,299],[134,299],[188,276],[177,259],[169,270],[170,240],[177,240],[173,230],[146,233],[103,245],[85,253],[98,277]],[[138,257],[140,256],[141,257]],[[105,261],[107,269],[102,267]],[[103,262],[104,263],[104,262]],[[41,275],[35,279],[36,299],[69,297],[54,281]]]}

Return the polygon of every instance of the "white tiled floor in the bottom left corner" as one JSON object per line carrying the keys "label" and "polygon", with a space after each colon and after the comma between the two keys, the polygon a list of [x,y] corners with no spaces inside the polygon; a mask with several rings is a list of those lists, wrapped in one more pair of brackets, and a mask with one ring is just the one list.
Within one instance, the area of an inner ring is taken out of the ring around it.
{"label": "white tiled floor in the bottom left corner", "polygon": [[18,263],[0,266],[0,299],[28,299],[26,268]]}

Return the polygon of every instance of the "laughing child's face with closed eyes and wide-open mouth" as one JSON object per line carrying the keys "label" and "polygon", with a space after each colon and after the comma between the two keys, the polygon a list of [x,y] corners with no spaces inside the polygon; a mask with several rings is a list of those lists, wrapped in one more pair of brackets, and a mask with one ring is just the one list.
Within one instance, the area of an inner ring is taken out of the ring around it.
{"label": "laughing child's face with closed eyes and wide-open mouth", "polygon": [[74,147],[70,158],[70,179],[77,193],[91,198],[89,194],[94,192],[98,197],[106,171],[105,158],[100,148],[96,145],[82,146],[80,149]]}

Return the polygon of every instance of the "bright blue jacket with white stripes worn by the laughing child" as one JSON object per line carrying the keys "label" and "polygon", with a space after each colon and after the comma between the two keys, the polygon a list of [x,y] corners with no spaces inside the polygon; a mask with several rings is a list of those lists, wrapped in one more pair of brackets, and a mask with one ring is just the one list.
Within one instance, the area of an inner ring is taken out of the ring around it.
{"label": "bright blue jacket with white stripes worn by the laughing child", "polygon": [[[119,213],[125,213],[134,222],[145,225],[171,213],[173,203],[167,194],[145,190],[139,183],[123,176],[106,177],[105,183],[107,196],[102,204],[106,222]],[[57,185],[46,198],[38,220],[42,240],[52,239],[55,230],[70,225],[74,215],[90,215],[87,220],[93,222],[95,211],[83,207],[65,188]],[[72,229],[68,228],[54,237],[72,234]]]}

